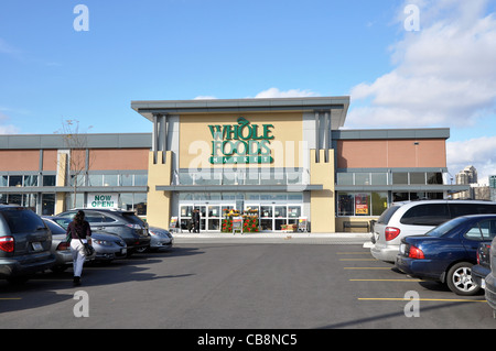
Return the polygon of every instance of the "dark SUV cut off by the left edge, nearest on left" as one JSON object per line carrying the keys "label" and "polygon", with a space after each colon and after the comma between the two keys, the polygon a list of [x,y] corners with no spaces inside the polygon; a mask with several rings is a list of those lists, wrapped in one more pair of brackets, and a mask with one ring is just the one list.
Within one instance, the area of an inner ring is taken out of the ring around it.
{"label": "dark SUV cut off by the left edge, nearest on left", "polygon": [[0,205],[0,277],[18,283],[55,264],[52,233],[31,209]]}

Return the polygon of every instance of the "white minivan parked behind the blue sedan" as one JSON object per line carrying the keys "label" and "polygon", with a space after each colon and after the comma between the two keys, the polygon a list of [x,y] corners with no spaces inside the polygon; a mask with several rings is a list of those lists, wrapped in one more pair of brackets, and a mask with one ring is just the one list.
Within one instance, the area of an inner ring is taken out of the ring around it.
{"label": "white minivan parked behind the blue sedan", "polygon": [[395,262],[402,238],[424,234],[452,218],[478,213],[496,213],[496,202],[482,200],[395,202],[374,224],[370,253],[377,260]]}

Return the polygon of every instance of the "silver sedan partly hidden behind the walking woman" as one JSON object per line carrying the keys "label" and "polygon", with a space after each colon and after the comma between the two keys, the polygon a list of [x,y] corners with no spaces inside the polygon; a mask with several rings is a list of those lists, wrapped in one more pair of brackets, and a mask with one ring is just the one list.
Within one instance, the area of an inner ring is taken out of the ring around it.
{"label": "silver sedan partly hidden behind the walking woman", "polygon": [[[52,250],[57,255],[57,264],[52,271],[62,272],[73,264],[71,249],[66,242],[66,230],[71,219],[66,217],[43,216],[43,220],[51,228],[55,239],[52,243]],[[100,262],[125,259],[127,255],[126,242],[116,234],[105,231],[91,231],[91,245],[95,248],[95,255],[86,257],[86,262]]]}

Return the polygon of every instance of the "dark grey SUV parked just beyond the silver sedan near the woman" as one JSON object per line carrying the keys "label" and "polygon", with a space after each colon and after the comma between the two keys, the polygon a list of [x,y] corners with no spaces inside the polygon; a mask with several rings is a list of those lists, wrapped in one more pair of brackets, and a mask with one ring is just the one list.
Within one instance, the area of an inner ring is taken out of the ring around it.
{"label": "dark grey SUV parked just beyond the silver sedan near the woman", "polygon": [[91,230],[105,230],[122,238],[128,245],[128,256],[136,252],[137,249],[150,246],[150,233],[148,224],[142,221],[133,211],[121,209],[94,209],[94,208],[76,208],[62,213],[57,217],[73,218],[78,210],[85,212]]}

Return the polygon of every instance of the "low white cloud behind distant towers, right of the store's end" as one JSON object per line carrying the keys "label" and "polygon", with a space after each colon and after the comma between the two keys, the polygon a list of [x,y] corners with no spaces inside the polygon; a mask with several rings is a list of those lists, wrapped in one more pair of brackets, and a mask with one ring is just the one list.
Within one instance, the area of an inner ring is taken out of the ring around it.
{"label": "low white cloud behind distant towers, right of the store's end", "polygon": [[446,143],[446,160],[454,176],[464,167],[477,169],[478,183],[487,184],[489,175],[496,175],[496,136],[481,136]]}

